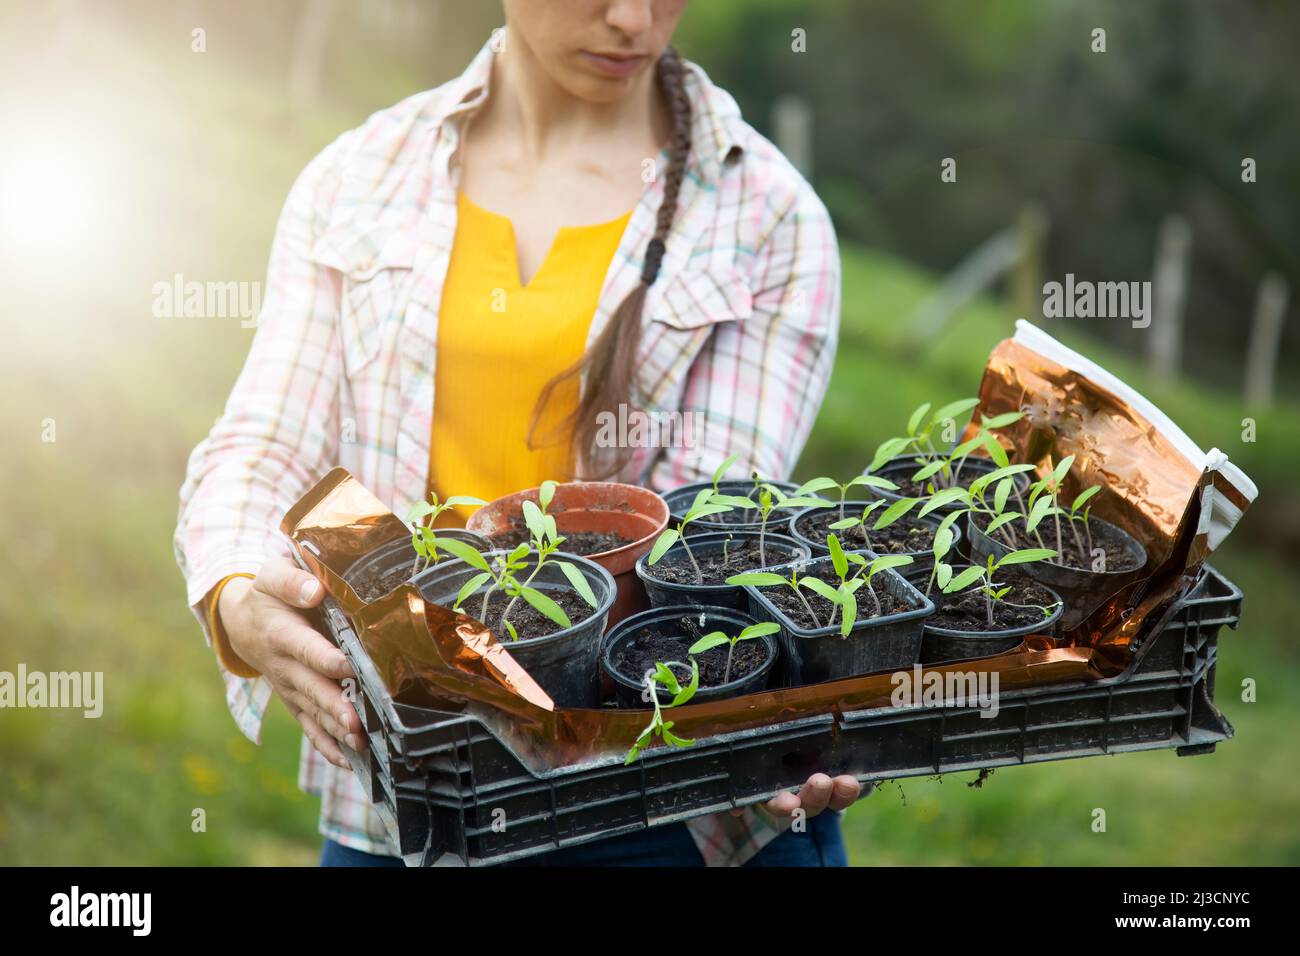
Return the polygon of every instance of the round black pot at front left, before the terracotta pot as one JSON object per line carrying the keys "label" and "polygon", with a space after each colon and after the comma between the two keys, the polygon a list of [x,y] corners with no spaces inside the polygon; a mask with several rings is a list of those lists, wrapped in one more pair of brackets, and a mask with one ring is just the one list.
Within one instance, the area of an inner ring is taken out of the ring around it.
{"label": "round black pot at front left, before the terracotta pot", "polygon": [[[489,551],[484,557],[490,562],[499,554],[504,554],[504,551]],[[528,555],[526,567],[519,572],[521,579],[530,574],[536,559],[536,553]],[[610,607],[614,606],[616,593],[614,578],[594,561],[556,551],[533,580],[533,588],[542,593],[573,589],[564,572],[552,563],[555,561],[567,561],[582,572],[588,584],[592,585],[592,591],[595,592],[595,610],[573,627],[545,637],[525,637],[514,641],[510,635],[497,635],[497,639],[533,680],[541,684],[558,706],[599,706],[601,635],[604,633],[604,622],[608,618]],[[460,559],[443,561],[420,574],[415,584],[420,588],[420,594],[425,601],[451,607],[456,601],[456,592],[476,574],[478,574],[477,568]],[[463,610],[472,611],[473,600],[468,600]]]}

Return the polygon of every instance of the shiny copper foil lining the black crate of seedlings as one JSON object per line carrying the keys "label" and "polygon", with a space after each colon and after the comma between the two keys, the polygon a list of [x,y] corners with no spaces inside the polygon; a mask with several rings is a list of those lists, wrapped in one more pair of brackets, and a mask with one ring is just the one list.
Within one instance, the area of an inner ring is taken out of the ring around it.
{"label": "shiny copper foil lining the black crate of seedlings", "polygon": [[[1171,423],[1153,421],[1147,407],[1119,394],[1121,382],[1083,363],[1022,323],[1015,339],[1002,342],[989,359],[979,411],[1032,406],[1006,436],[1017,458],[1046,468],[1063,455],[1079,455],[1084,481],[1110,488],[1095,498],[1095,511],[1152,555],[1145,576],[1098,607],[1063,646],[1048,636],[1030,637],[998,657],[928,667],[923,679],[988,672],[1010,691],[1118,674],[1131,659],[1132,640],[1188,587],[1254,497],[1249,480],[1222,455],[1199,453]],[[410,584],[364,605],[344,580],[347,570],[410,529],[344,470],[326,475],[281,527],[299,562],[351,619],[368,658],[361,667],[373,667],[372,683],[380,682],[395,702],[477,718],[540,775],[621,757],[645,728],[647,711],[556,708],[510,656],[508,643],[467,615],[425,602]],[[672,719],[675,732],[708,737],[906,704],[897,698],[901,683],[893,674],[864,675],[688,704],[675,708]]]}

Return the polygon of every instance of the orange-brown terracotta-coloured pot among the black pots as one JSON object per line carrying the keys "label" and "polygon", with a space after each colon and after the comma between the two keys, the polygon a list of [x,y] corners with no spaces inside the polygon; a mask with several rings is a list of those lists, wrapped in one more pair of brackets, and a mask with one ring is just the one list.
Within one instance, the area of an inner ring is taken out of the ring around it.
{"label": "orange-brown terracotta-coloured pot among the black pots", "polygon": [[[507,494],[478,509],[465,523],[468,531],[491,537],[524,520],[524,501],[537,501],[537,489]],[[560,535],[582,531],[606,532],[632,538],[612,551],[586,555],[611,575],[618,597],[610,610],[610,626],[650,606],[645,585],[637,578],[637,559],[647,554],[668,527],[668,506],[654,492],[615,481],[568,481],[555,488],[550,512]],[[562,545],[563,548],[563,545]]]}

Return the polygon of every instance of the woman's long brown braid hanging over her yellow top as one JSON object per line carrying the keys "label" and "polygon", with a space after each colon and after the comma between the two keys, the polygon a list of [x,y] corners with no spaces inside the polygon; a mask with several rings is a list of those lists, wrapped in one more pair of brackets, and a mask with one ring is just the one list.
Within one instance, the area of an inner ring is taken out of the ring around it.
{"label": "woman's long brown braid hanging over her yellow top", "polygon": [[630,450],[620,446],[608,459],[598,460],[593,454],[593,445],[603,418],[601,412],[618,415],[620,405],[632,405],[637,399],[632,392],[636,385],[637,347],[641,343],[641,312],[646,291],[659,277],[664,242],[677,215],[677,195],[681,191],[681,181],[686,174],[686,157],[690,153],[690,99],[686,95],[686,70],[672,47],[659,57],[655,73],[672,113],[672,138],[668,140],[663,200],[659,203],[654,238],[646,246],[641,281],[619,303],[586,354],[542,388],[528,432],[529,447],[536,447],[542,410],[555,390],[575,377],[585,381],[577,407],[566,416],[556,433],[569,436],[578,467],[589,477],[608,477],[620,471],[630,457]]}

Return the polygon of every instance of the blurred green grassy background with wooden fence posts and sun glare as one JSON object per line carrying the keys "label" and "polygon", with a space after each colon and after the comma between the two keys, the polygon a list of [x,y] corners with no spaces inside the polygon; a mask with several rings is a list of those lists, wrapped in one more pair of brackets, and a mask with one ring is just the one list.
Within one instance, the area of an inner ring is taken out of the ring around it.
{"label": "blurred green grassy background with wooden fence posts and sun glare", "polygon": [[[0,864],[315,861],[298,727],[277,706],[261,748],[238,734],[170,549],[186,455],[252,333],[156,319],[152,289],[261,281],[311,156],[456,74],[498,21],[489,0],[0,3],[0,670],[103,670],[107,696],[98,721],[0,710]],[[1149,278],[1176,217],[1192,245],[1173,367],[1153,371],[1149,334],[1124,321],[1050,330],[1261,488],[1216,557],[1247,594],[1219,657],[1235,740],[1008,769],[980,790],[905,780],[849,813],[855,864],[1300,861],[1294,307],[1274,401],[1243,393],[1262,277],[1300,287],[1297,26],[1295,4],[1264,0],[688,9],[679,47],[755,126],[775,133],[788,96],[811,117],[801,148],[841,232],[842,343],[803,475],[854,473],[915,405],[974,393],[1044,277]],[[939,178],[948,156],[956,183]],[[911,343],[945,276],[1009,228],[1032,255]],[[1245,678],[1258,702],[1240,700]],[[194,808],[207,832],[191,832]]]}

